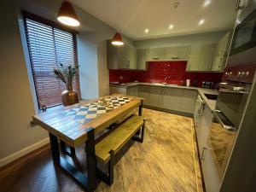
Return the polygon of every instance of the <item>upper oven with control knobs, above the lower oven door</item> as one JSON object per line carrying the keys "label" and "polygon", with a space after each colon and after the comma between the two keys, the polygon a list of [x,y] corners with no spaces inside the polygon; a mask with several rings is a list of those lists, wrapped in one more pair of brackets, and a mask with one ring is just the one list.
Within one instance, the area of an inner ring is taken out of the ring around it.
{"label": "upper oven with control knobs, above the lower oven door", "polygon": [[238,128],[253,85],[256,62],[227,67],[219,84],[217,110]]}

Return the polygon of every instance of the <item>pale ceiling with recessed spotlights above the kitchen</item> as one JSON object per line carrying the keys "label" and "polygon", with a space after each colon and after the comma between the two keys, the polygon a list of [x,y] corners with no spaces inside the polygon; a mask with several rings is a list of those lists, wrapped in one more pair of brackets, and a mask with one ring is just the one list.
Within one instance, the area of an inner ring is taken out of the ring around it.
{"label": "pale ceiling with recessed spotlights above the kitchen", "polygon": [[[118,0],[72,3],[118,28]],[[179,3],[177,8],[175,3]],[[236,18],[235,6],[236,0],[119,0],[119,31],[140,40],[231,29]],[[200,20],[205,22],[199,25]]]}

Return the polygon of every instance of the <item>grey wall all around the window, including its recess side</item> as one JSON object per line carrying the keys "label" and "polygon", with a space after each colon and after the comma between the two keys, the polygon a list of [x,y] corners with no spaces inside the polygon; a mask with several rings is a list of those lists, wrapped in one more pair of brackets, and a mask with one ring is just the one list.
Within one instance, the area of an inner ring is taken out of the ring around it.
{"label": "grey wall all around the window, including its recess side", "polygon": [[[33,100],[30,63],[27,58],[24,34],[18,25],[20,9],[56,20],[62,0],[9,0],[1,1],[1,70],[0,84],[0,164],[4,157],[48,137],[39,126],[31,126],[32,115],[38,113]],[[108,94],[107,39],[113,38],[115,30],[95,17],[75,7],[82,26],[79,27],[79,65],[81,67],[81,90],[84,98]],[[22,20],[20,20],[22,25]],[[125,42],[133,44],[131,39]],[[24,48],[22,47],[22,43]],[[27,67],[26,67],[27,65]],[[5,158],[6,159],[6,158]]]}

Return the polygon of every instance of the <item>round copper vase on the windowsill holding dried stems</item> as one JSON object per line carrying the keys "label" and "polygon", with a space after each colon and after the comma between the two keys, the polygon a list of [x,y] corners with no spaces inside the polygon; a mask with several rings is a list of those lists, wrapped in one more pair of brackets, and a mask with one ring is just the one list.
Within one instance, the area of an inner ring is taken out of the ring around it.
{"label": "round copper vase on the windowsill holding dried stems", "polygon": [[67,90],[61,93],[61,100],[64,106],[79,103],[79,94],[73,90],[72,84],[67,84]]}

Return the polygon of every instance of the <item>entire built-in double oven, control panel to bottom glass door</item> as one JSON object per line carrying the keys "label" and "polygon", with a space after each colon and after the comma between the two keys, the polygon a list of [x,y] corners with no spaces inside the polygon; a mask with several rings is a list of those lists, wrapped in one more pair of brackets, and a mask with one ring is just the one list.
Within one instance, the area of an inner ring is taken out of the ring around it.
{"label": "entire built-in double oven, control panel to bottom glass door", "polygon": [[219,181],[224,176],[225,167],[236,140],[247,99],[255,78],[256,62],[227,67],[224,70],[216,109],[213,111],[212,125],[207,138],[212,161]]}

